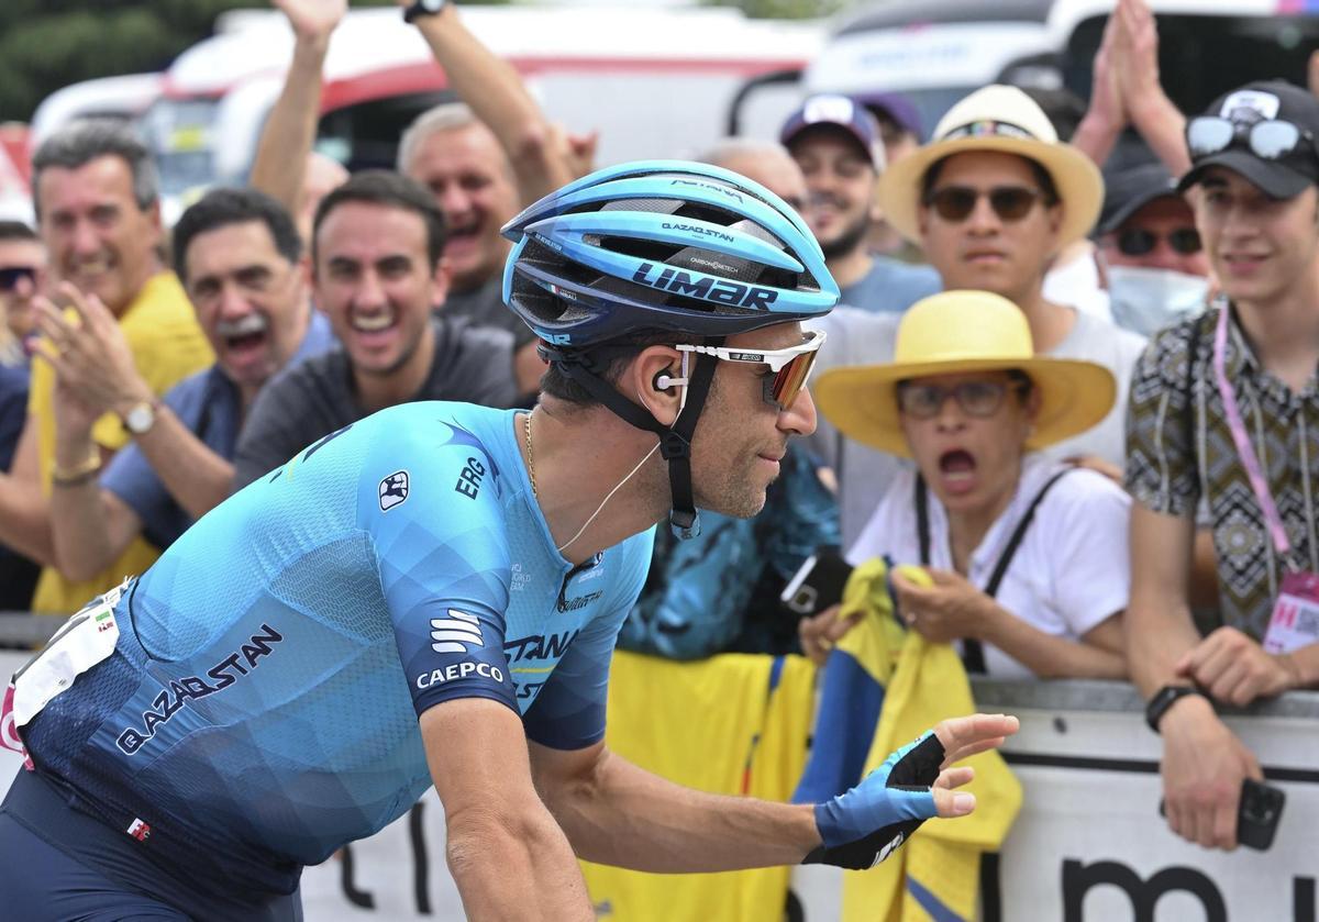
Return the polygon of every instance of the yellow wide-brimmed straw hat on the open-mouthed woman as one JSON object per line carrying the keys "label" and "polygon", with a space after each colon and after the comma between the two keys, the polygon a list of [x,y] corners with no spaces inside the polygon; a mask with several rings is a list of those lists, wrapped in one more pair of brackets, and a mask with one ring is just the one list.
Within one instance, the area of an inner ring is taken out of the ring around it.
{"label": "yellow wide-brimmed straw hat on the open-mouthed woman", "polygon": [[1103,365],[1037,356],[1025,315],[989,292],[943,292],[918,301],[902,315],[890,364],[834,368],[811,392],[848,438],[910,456],[898,418],[898,381],[1013,368],[1029,375],[1041,396],[1028,450],[1086,431],[1108,415],[1117,396],[1113,375]]}

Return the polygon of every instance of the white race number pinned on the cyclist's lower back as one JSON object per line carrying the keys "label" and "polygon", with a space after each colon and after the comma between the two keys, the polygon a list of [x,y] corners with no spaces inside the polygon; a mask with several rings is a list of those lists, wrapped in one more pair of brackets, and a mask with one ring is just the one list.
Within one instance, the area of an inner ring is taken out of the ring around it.
{"label": "white race number pinned on the cyclist's lower back", "polygon": [[67,691],[74,679],[115,652],[119,641],[115,605],[127,587],[125,579],[88,603],[65,621],[46,649],[13,674],[12,720],[16,731],[26,727],[53,698]]}

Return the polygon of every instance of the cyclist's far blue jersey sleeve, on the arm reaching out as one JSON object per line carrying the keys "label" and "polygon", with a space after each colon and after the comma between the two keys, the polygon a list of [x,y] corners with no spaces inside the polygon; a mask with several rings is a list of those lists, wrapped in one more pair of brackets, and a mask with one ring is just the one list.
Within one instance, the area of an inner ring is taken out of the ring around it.
{"label": "cyclist's far blue jersey sleeve, on the arm reaching out", "polygon": [[605,551],[617,554],[611,604],[572,641],[522,719],[528,739],[551,749],[584,749],[604,739],[609,660],[619,629],[641,595],[654,529]]}

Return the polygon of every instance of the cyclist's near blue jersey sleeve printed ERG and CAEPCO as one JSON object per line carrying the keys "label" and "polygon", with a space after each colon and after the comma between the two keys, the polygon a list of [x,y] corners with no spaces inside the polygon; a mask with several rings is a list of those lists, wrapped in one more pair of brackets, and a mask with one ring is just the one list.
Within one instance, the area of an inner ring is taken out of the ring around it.
{"label": "cyclist's near blue jersey sleeve printed ERG and CAEPCO", "polygon": [[518,712],[504,653],[509,550],[492,471],[480,442],[448,423],[385,434],[363,466],[359,516],[418,715],[454,698]]}

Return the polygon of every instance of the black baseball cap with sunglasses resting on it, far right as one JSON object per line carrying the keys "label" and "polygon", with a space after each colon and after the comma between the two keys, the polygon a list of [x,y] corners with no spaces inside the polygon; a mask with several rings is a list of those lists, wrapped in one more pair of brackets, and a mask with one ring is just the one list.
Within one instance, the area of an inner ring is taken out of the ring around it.
{"label": "black baseball cap with sunglasses resting on it, far right", "polygon": [[1186,191],[1204,179],[1211,166],[1235,170],[1275,199],[1294,198],[1308,186],[1319,185],[1319,99],[1308,90],[1286,80],[1257,80],[1224,94],[1202,115],[1228,119],[1242,125],[1256,121],[1290,121],[1311,135],[1308,144],[1278,160],[1265,160],[1248,146],[1233,142],[1204,157],[1192,157],[1191,170],[1178,183]]}

